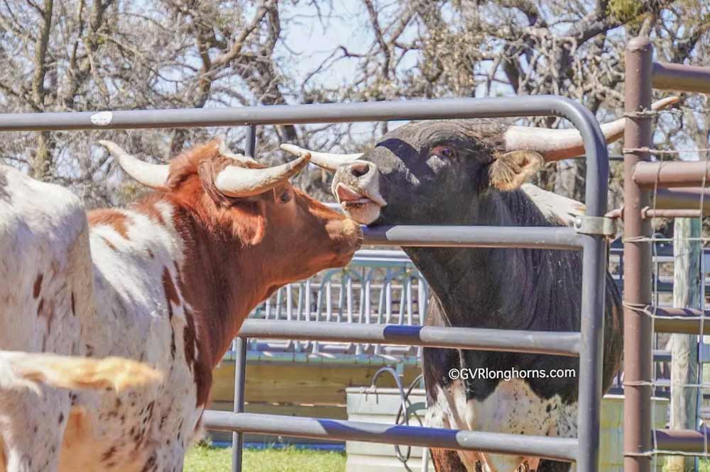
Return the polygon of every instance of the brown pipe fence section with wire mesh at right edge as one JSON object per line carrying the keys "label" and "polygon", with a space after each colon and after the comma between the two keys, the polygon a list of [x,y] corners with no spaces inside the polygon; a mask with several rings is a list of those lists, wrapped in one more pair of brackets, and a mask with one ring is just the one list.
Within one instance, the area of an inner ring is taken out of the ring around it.
{"label": "brown pipe fence section with wire mesh at right edge", "polygon": [[[709,451],[701,420],[704,393],[710,388],[702,366],[709,320],[701,249],[707,239],[701,232],[702,217],[710,209],[706,201],[709,146],[682,150],[654,147],[652,120],[658,113],[650,108],[650,99],[652,84],[707,91],[710,68],[655,64],[650,40],[634,38],[626,48],[626,72],[624,468],[647,472],[659,465],[661,454],[707,456]],[[678,159],[689,152],[698,160]],[[670,237],[652,231],[657,222],[654,218],[682,220],[677,220],[674,237]],[[674,243],[674,264],[669,268],[660,262],[658,249],[670,242]],[[670,270],[674,275],[672,297],[661,287],[662,276],[668,276]],[[654,341],[655,347],[663,343],[672,354],[670,381],[652,368]],[[650,408],[651,395],[659,386],[670,387],[670,429],[651,427],[656,420],[655,410]],[[672,459],[666,466],[677,471],[686,469],[688,463]]]}

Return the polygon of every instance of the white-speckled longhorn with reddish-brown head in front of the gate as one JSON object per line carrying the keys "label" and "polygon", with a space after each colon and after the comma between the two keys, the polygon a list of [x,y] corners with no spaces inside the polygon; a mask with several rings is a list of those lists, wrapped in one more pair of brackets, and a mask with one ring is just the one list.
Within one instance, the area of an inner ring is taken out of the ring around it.
{"label": "white-speckled longhorn with reddish-brown head in front of the gate", "polygon": [[163,381],[48,382],[66,390],[4,377],[0,471],[181,471],[246,315],[279,286],[344,266],[361,242],[353,220],[288,183],[309,154],[265,168],[214,140],[156,165],[102,145],[155,192],[87,215],[69,191],[0,168],[0,349],[121,356]]}

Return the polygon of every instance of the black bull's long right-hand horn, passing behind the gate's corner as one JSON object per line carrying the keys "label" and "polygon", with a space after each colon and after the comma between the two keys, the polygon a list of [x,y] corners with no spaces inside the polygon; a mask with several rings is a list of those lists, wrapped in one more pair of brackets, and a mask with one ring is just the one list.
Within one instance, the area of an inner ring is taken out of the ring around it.
{"label": "black bull's long right-hand horn, passing behind the gate's corner", "polygon": [[[670,96],[652,104],[653,110],[662,110],[679,101],[679,97]],[[619,118],[601,125],[601,132],[606,142],[614,142],[623,136],[626,118]],[[559,161],[584,154],[584,142],[577,130],[554,130],[530,126],[510,126],[503,138],[506,150],[536,151],[545,157],[545,161]]]}

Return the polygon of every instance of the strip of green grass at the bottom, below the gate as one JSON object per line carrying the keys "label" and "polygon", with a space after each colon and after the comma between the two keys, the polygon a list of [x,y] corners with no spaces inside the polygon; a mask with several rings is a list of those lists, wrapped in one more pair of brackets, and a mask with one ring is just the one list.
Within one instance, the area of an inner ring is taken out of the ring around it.
{"label": "strip of green grass at the bottom, below the gate", "polygon": [[[344,472],[342,452],[245,449],[244,472]],[[197,445],[185,456],[185,472],[231,472],[231,448]]]}

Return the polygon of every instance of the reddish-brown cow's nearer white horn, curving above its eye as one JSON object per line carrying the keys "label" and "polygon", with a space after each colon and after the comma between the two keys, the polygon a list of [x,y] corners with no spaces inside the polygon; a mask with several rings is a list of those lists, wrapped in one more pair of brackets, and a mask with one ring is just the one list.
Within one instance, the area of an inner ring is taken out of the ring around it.
{"label": "reddish-brown cow's nearer white horn, curving above its eye", "polygon": [[302,154],[295,161],[266,169],[246,169],[239,166],[225,167],[214,179],[217,190],[231,197],[248,197],[273,189],[291,176],[298,174],[308,161],[310,154]]}

